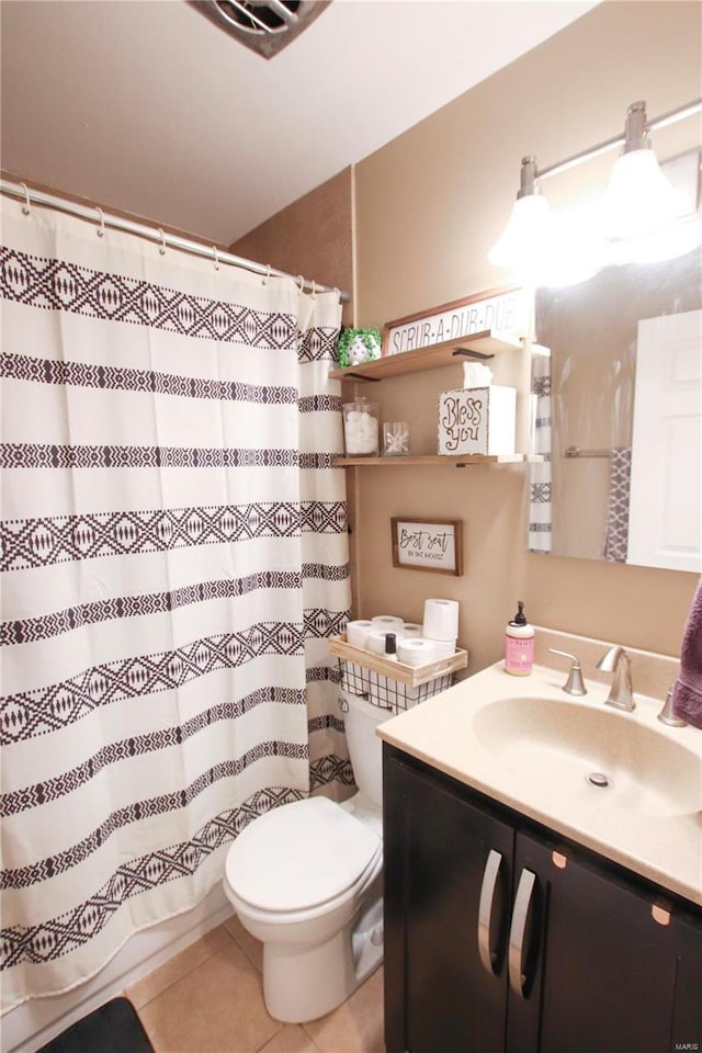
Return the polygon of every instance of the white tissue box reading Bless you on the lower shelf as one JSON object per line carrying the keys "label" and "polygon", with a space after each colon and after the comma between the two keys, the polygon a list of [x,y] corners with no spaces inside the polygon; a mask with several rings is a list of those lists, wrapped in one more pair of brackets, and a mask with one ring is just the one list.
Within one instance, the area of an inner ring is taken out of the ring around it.
{"label": "white tissue box reading Bless you on the lower shelf", "polygon": [[461,387],[439,396],[439,453],[514,453],[517,390]]}

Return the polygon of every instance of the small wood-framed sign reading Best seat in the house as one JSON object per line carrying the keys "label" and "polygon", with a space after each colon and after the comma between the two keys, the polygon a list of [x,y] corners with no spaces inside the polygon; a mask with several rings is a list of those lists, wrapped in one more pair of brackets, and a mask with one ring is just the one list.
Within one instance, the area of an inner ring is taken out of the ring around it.
{"label": "small wood-framed sign reading Best seat in the house", "polygon": [[433,574],[463,574],[463,520],[390,519],[393,566]]}

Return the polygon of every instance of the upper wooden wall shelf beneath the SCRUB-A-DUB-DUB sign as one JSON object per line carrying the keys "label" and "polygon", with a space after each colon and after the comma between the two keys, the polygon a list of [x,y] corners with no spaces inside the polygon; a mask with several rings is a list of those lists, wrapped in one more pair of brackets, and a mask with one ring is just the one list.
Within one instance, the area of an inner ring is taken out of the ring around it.
{"label": "upper wooden wall shelf beneath the SCRUB-A-DUB-DUB sign", "polygon": [[500,351],[521,348],[516,337],[497,333],[494,329],[484,329],[460,340],[444,340],[418,351],[403,351],[401,354],[386,354],[362,365],[349,365],[347,369],[331,370],[329,376],[335,381],[382,381],[388,376],[401,376],[404,373],[419,373],[422,370],[437,370],[442,365],[455,365],[463,359],[491,359]]}

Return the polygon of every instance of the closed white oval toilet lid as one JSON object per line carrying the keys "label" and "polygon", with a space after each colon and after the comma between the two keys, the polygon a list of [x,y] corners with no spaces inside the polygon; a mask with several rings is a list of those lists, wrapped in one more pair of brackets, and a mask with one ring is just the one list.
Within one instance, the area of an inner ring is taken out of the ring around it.
{"label": "closed white oval toilet lid", "polygon": [[233,892],[261,910],[304,910],[354,884],[381,847],[367,826],[329,801],[308,797],[273,808],[229,849]]}

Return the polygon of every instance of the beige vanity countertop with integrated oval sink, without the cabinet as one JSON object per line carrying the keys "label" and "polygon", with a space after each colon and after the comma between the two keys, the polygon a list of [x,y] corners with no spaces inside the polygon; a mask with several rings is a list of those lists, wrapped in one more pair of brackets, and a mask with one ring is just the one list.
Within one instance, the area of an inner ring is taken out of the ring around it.
{"label": "beige vanity countertop with integrated oval sink, without the cabinet", "polygon": [[[567,669],[566,669],[567,672]],[[467,786],[702,906],[702,731],[562,690],[563,669],[502,663],[386,721],[377,734]],[[588,782],[603,771],[608,789]]]}

